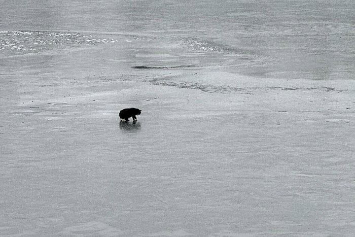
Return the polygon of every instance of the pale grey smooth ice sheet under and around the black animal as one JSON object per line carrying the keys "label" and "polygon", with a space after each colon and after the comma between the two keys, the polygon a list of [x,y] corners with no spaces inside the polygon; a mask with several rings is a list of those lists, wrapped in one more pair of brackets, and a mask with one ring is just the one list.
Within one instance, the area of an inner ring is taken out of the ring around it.
{"label": "pale grey smooth ice sheet under and around the black animal", "polygon": [[170,46],[122,39],[2,61],[3,236],[353,234],[352,81],[136,59]]}

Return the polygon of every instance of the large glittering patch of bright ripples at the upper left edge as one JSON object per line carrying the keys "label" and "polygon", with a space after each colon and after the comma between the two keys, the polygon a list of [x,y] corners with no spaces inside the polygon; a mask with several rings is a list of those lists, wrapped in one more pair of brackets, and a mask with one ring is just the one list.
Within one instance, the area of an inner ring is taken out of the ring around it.
{"label": "large glittering patch of bright ripples at the upper left edge", "polygon": [[115,39],[102,39],[78,32],[56,31],[0,31],[0,50],[43,51],[61,47],[79,47],[114,43]]}

